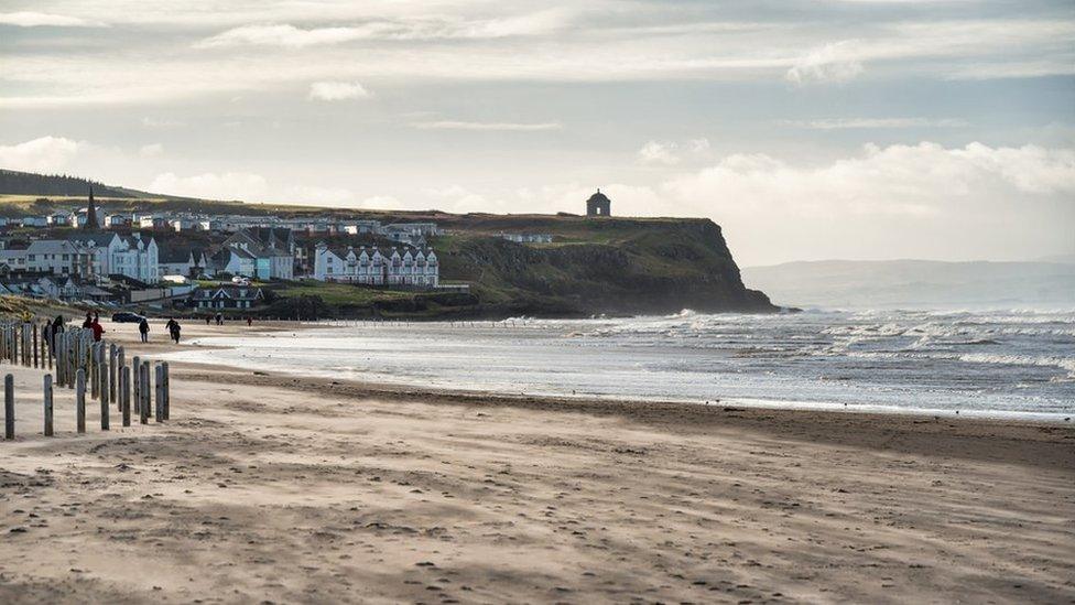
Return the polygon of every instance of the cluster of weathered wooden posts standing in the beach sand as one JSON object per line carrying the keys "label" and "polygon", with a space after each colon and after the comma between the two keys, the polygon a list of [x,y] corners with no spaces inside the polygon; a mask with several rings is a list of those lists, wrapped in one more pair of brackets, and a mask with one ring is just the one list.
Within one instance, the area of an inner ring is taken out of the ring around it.
{"label": "cluster of weathered wooden posts standing in the beach sand", "polygon": [[[0,322],[0,364],[46,369],[42,380],[44,435],[54,431],[53,391],[66,388],[75,391],[75,426],[86,432],[86,396],[100,403],[100,426],[110,428],[110,412],[115,403],[123,426],[131,425],[131,414],[148,424],[169,419],[170,383],[167,361],[153,364],[134,356],[127,363],[122,346],[94,341],[91,329],[69,327],[55,334],[41,329],[35,322]],[[55,377],[53,376],[55,374]],[[15,437],[14,377],[3,379],[3,434]]]}

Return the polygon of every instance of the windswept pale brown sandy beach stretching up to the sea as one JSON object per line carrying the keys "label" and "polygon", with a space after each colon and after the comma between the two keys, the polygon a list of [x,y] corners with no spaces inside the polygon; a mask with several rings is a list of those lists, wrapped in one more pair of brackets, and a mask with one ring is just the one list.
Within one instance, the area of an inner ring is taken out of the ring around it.
{"label": "windswept pale brown sandy beach stretching up to the sea", "polygon": [[46,439],[0,370],[0,603],[1075,603],[1069,425],[175,365],[166,425]]}

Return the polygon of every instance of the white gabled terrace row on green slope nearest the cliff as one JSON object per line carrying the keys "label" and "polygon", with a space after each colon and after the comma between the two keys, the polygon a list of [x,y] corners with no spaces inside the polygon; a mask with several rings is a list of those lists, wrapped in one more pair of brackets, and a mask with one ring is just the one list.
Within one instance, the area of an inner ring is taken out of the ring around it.
{"label": "white gabled terrace row on green slope nearest the cliff", "polygon": [[317,245],[314,256],[314,279],[368,285],[403,285],[436,288],[441,282],[441,266],[431,248],[406,248],[382,252],[366,246],[334,250]]}

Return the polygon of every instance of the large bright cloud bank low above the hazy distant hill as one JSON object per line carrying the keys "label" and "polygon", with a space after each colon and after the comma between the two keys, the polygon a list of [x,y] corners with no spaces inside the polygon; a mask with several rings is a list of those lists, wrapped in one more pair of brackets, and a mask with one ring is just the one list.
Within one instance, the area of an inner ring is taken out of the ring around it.
{"label": "large bright cloud bank low above the hazy distant hill", "polygon": [[732,154],[660,192],[721,224],[750,262],[1025,258],[1071,246],[1075,150],[869,144],[817,165]]}

